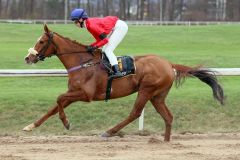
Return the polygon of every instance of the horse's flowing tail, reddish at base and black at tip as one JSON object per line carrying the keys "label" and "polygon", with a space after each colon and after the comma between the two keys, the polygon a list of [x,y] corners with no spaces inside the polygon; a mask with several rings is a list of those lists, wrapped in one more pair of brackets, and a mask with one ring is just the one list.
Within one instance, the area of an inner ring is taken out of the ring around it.
{"label": "horse's flowing tail, reddish at base and black at tip", "polygon": [[186,77],[197,77],[202,82],[206,83],[212,88],[213,97],[218,100],[221,105],[224,104],[224,92],[220,84],[218,84],[217,78],[213,71],[209,69],[203,69],[201,66],[188,67],[180,64],[172,64],[172,67],[176,70],[176,85],[182,84]]}

